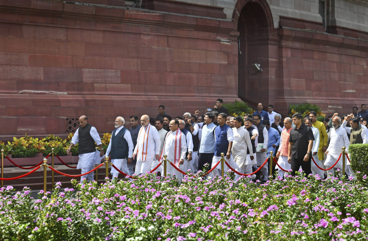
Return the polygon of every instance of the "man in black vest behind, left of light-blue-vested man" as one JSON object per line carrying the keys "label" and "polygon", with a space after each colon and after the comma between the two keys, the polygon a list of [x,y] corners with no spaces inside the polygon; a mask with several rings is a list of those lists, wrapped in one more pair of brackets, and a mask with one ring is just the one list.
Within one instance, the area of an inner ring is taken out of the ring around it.
{"label": "man in black vest behind, left of light-blue-vested man", "polygon": [[199,129],[200,128],[199,128],[198,123],[192,122],[190,113],[188,112],[184,113],[183,118],[185,121],[184,128],[185,130],[189,131],[192,136],[193,149],[191,151],[188,149],[188,153],[190,154],[191,163],[194,164],[195,169],[198,170],[198,149],[199,149]]}

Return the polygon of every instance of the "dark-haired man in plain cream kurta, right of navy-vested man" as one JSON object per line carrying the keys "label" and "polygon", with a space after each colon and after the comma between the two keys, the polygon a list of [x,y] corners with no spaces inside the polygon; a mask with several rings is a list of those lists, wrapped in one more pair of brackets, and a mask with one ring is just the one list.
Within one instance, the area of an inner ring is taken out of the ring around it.
{"label": "dark-haired man in plain cream kurta, right of navy-vested man", "polygon": [[[248,120],[249,127],[251,127],[251,120]],[[240,173],[250,174],[252,173],[253,160],[253,149],[254,140],[251,141],[250,132],[247,129],[241,127],[241,117],[237,116],[233,119],[233,146],[231,152],[234,156],[234,162],[238,165]],[[255,130],[254,128],[252,130]],[[255,138],[254,138],[255,139]],[[252,145],[253,144],[253,145]],[[237,174],[238,175],[238,174]],[[238,176],[236,176],[235,180]],[[255,175],[247,176],[252,179]]]}

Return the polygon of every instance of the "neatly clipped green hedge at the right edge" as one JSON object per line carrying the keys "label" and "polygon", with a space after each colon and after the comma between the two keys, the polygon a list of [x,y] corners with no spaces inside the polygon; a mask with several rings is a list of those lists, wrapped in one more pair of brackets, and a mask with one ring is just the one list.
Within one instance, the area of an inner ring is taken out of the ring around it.
{"label": "neatly clipped green hedge at the right edge", "polygon": [[349,145],[350,167],[354,172],[368,176],[368,144]]}

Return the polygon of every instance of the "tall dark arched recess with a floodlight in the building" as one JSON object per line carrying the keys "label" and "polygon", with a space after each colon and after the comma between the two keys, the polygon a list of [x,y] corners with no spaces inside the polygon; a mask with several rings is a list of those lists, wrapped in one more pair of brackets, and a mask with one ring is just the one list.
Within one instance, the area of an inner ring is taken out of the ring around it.
{"label": "tall dark arched recess with a floodlight in the building", "polygon": [[[274,100],[272,91],[269,91],[270,78],[275,78],[270,56],[277,54],[277,41],[273,36],[273,19],[268,3],[266,0],[239,0],[233,20],[237,22],[236,31],[239,32],[238,96],[249,103],[269,103],[270,99]],[[263,71],[255,74],[254,63],[261,64]]]}

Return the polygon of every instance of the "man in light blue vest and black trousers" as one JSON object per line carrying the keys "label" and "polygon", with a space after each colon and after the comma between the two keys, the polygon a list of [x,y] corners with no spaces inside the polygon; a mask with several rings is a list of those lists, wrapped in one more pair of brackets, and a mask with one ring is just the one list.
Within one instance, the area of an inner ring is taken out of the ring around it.
{"label": "man in light blue vest and black trousers", "polygon": [[[206,163],[211,166],[213,153],[215,152],[215,135],[213,134],[216,125],[213,124],[215,116],[212,113],[205,115],[205,124],[202,127],[202,137],[199,143],[198,170],[203,170]],[[204,170],[204,171],[208,171]]]}

